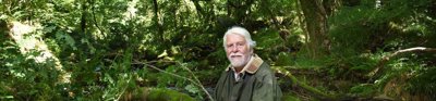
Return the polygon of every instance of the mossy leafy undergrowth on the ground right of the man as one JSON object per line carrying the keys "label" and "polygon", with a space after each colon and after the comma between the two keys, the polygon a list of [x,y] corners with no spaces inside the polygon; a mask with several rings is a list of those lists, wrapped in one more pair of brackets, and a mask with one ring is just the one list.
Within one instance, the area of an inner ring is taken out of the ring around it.
{"label": "mossy leafy undergrowth on the ground right of the man", "polygon": [[[420,60],[420,55],[413,56],[412,53],[412,56],[393,59],[384,65],[384,71],[377,76],[366,75],[377,67],[382,56],[386,54],[379,52],[352,58],[330,55],[322,60],[296,59],[293,63],[295,65],[276,67],[288,70],[299,81],[336,96],[336,100],[429,101],[435,98],[435,67],[427,60]],[[304,62],[296,63],[301,61]],[[288,93],[286,99],[326,100],[325,97],[291,83],[289,77],[280,73],[277,75],[282,89]]]}

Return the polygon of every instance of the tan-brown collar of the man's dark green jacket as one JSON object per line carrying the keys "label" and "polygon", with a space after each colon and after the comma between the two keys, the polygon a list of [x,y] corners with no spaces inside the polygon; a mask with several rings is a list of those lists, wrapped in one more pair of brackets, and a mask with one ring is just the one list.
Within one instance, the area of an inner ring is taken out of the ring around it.
{"label": "tan-brown collar of the man's dark green jacket", "polygon": [[[257,72],[257,70],[259,68],[259,66],[262,65],[262,63],[264,63],[264,60],[262,60],[261,58],[257,56],[257,54],[253,54],[252,58],[250,58],[249,63],[246,63],[246,65],[244,66],[244,68],[242,68],[241,73],[244,74],[250,73],[250,74],[254,74]],[[226,71],[232,70],[234,71],[234,67],[231,66],[231,64],[226,68]]]}

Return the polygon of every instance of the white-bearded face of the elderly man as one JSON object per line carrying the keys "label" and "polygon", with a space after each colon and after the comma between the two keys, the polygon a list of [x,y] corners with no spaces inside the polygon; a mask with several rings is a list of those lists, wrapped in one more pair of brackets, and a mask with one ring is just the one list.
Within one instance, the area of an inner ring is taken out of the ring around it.
{"label": "white-bearded face of the elderly man", "polygon": [[227,59],[233,67],[243,67],[249,62],[251,50],[247,41],[241,35],[229,34],[226,36]]}

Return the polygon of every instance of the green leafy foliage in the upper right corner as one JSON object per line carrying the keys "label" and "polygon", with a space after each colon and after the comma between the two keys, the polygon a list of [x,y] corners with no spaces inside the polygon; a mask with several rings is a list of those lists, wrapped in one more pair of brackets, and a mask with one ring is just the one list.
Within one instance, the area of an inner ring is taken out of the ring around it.
{"label": "green leafy foliage in the upper right corner", "polygon": [[433,35],[424,27],[432,26],[420,17],[428,16],[422,10],[425,10],[425,3],[431,2],[429,0],[386,1],[380,8],[374,7],[371,1],[364,0],[356,7],[343,7],[329,18],[334,51],[350,54],[423,46],[414,39],[425,39],[429,37],[423,35]]}

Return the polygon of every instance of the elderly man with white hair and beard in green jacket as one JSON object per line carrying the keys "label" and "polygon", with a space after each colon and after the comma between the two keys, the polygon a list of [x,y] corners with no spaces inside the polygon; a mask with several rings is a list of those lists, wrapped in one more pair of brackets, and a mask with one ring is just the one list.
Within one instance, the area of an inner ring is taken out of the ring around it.
{"label": "elderly man with white hair and beard in green jacket", "polygon": [[279,101],[281,90],[269,65],[253,53],[250,33],[234,26],[226,31],[223,47],[230,65],[216,89],[217,101]]}

